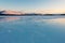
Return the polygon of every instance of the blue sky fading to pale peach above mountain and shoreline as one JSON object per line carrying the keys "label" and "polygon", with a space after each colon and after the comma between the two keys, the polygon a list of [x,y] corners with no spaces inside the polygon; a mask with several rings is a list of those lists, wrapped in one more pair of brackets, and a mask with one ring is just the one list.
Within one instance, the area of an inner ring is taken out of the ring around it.
{"label": "blue sky fading to pale peach above mountain and shoreline", "polygon": [[65,0],[0,0],[0,10],[27,13],[65,13]]}

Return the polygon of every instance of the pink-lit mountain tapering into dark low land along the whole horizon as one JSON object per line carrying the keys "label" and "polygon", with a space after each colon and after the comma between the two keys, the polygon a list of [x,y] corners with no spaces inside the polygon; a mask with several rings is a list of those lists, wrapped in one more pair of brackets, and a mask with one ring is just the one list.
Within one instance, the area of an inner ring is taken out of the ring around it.
{"label": "pink-lit mountain tapering into dark low land along the whole horizon", "polygon": [[5,16],[5,15],[8,15],[8,16],[10,16],[10,15],[14,15],[14,16],[32,16],[32,15],[40,15],[40,16],[55,16],[55,15],[65,15],[65,14],[37,14],[37,13],[23,13],[23,12],[17,12],[17,11],[0,11],[0,16],[1,15],[3,15],[3,16]]}

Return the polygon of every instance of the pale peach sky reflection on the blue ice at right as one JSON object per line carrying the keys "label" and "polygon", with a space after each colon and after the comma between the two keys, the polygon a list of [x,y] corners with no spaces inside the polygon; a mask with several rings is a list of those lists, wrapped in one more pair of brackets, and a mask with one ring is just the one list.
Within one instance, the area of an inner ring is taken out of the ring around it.
{"label": "pale peach sky reflection on the blue ice at right", "polygon": [[65,24],[65,18],[36,19],[36,22],[49,23],[49,24]]}

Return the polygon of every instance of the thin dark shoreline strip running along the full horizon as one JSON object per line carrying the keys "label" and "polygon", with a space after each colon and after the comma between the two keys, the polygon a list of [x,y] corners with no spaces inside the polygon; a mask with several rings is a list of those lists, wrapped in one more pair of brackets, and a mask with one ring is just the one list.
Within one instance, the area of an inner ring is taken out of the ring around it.
{"label": "thin dark shoreline strip running along the full horizon", "polygon": [[0,16],[65,16],[65,14],[0,14]]}

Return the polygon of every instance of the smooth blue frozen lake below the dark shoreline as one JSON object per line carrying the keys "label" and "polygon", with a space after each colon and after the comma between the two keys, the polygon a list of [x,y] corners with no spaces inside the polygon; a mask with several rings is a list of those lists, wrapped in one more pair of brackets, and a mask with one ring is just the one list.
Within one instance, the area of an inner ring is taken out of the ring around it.
{"label": "smooth blue frozen lake below the dark shoreline", "polygon": [[0,16],[0,43],[65,43],[65,16]]}

